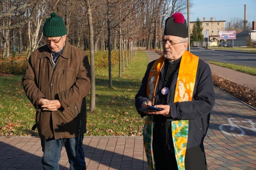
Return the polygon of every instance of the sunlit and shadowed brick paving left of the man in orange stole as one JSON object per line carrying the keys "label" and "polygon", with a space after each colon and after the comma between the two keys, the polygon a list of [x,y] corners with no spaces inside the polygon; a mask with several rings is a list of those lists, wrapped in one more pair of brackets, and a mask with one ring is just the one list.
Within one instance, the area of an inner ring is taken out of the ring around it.
{"label": "sunlit and shadowed brick paving left of the man in orange stole", "polygon": [[[87,170],[147,169],[142,137],[84,137]],[[0,170],[42,168],[38,137],[0,137]],[[69,169],[65,147],[60,169]]]}

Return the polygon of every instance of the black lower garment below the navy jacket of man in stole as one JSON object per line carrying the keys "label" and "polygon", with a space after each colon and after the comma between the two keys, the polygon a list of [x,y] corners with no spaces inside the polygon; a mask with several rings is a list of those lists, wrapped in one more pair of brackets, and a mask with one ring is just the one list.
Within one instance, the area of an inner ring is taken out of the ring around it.
{"label": "black lower garment below the navy jacket of man in stole", "polygon": [[[177,170],[177,162],[172,142],[171,122],[155,122],[153,131],[153,155],[156,170]],[[204,147],[186,149],[186,170],[207,170]]]}

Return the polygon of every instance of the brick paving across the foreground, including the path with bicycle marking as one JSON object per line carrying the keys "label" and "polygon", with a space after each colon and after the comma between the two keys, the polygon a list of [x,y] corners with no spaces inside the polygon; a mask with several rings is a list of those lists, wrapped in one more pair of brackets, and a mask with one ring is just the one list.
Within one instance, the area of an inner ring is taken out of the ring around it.
{"label": "brick paving across the foreground, including the path with bicycle marking", "polygon": [[[156,53],[147,52],[149,60]],[[256,169],[256,109],[215,88],[216,101],[204,147],[208,169]],[[230,124],[234,130],[230,129]],[[87,170],[147,169],[142,137],[85,137]],[[0,170],[40,170],[37,137],[0,137]],[[60,169],[69,169],[65,147]]]}

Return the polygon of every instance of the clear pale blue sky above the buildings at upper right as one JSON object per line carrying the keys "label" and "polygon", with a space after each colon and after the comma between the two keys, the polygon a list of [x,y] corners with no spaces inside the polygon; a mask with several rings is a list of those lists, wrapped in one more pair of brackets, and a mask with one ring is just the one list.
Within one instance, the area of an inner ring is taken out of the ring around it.
{"label": "clear pale blue sky above the buildings at upper right", "polygon": [[[190,7],[190,22],[199,19],[225,20],[239,17],[244,20],[244,4],[246,4],[246,19],[248,22],[256,21],[256,0],[193,0],[194,6]],[[187,17],[186,17],[187,18]]]}

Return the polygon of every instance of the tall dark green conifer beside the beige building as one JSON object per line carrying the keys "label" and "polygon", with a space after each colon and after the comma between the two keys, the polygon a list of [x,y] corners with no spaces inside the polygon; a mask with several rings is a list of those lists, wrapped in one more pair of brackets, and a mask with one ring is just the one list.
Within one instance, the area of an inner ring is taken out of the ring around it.
{"label": "tall dark green conifer beside the beige building", "polygon": [[202,34],[202,22],[199,18],[197,18],[196,23],[192,28],[192,33],[190,34],[190,44],[194,41],[203,41],[203,34]]}

